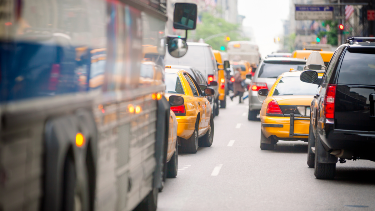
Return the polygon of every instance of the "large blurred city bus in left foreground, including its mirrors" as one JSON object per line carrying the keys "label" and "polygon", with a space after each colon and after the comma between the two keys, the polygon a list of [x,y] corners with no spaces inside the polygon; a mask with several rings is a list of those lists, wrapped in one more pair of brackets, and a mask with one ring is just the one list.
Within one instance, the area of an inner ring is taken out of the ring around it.
{"label": "large blurred city bus in left foreground, including its mirrors", "polygon": [[[166,35],[165,0],[1,6],[0,210],[156,210],[166,43],[187,49]],[[195,29],[196,5],[177,6],[177,29]]]}

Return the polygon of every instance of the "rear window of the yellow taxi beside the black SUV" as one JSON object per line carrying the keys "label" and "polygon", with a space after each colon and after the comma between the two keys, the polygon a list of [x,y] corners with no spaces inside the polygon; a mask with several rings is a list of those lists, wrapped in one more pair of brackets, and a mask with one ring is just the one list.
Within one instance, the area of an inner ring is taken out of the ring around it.
{"label": "rear window of the yellow taxi beside the black SUV", "polygon": [[317,84],[302,82],[299,76],[282,77],[273,92],[273,96],[315,95],[317,88]]}

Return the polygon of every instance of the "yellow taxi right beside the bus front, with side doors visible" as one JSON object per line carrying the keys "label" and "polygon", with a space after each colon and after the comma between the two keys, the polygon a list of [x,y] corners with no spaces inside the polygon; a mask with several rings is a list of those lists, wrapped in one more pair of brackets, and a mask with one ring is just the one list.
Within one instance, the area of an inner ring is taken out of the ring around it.
{"label": "yellow taxi right beside the bus front, with side doors visible", "polygon": [[[196,153],[198,146],[210,147],[214,124],[210,102],[204,96],[214,95],[214,90],[199,86],[194,78],[182,69],[165,68],[165,97],[172,105],[178,122],[177,136],[181,151]],[[203,89],[203,91],[202,91]],[[174,106],[178,96],[182,105]]]}

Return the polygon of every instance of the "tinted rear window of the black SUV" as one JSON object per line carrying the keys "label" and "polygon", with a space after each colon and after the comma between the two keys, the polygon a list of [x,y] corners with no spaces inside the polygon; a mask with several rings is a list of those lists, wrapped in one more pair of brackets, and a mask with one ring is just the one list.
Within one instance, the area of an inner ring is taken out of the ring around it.
{"label": "tinted rear window of the black SUV", "polygon": [[342,61],[338,84],[375,85],[375,49],[348,49]]}

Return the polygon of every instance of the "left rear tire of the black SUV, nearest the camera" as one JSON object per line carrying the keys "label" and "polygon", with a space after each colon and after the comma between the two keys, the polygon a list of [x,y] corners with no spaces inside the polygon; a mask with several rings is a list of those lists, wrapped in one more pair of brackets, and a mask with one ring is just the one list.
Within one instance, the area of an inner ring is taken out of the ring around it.
{"label": "left rear tire of the black SUV, nearest the camera", "polygon": [[[315,142],[315,169],[314,175],[317,179],[333,179],[336,173],[336,163],[319,163],[320,153],[322,151],[323,145],[321,143],[320,137],[317,136]],[[332,156],[332,155],[331,155]]]}

